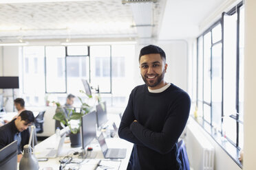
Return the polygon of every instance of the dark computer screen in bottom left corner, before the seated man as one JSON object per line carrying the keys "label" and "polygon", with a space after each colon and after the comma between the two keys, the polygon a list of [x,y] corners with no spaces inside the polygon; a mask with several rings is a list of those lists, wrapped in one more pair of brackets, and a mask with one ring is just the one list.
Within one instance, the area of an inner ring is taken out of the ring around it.
{"label": "dark computer screen in bottom left corner, before the seated man", "polygon": [[0,169],[17,170],[17,141],[0,150]]}

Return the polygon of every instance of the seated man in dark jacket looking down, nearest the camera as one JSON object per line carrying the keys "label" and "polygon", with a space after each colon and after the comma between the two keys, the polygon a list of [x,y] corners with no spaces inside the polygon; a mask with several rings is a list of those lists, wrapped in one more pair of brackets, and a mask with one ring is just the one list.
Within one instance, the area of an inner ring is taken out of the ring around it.
{"label": "seated man in dark jacket looking down, nearest the camera", "polygon": [[27,145],[30,139],[28,126],[34,122],[34,114],[29,110],[24,110],[17,119],[0,127],[0,149],[12,143],[18,142],[18,161],[22,157],[24,145]]}

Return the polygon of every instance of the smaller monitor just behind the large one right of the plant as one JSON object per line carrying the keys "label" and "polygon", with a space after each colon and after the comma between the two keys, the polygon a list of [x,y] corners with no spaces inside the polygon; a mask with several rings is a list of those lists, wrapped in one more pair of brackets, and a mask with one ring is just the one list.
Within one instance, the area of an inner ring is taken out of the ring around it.
{"label": "smaller monitor just behind the large one right of the plant", "polygon": [[97,111],[97,125],[98,127],[103,126],[105,123],[107,123],[107,107],[106,107],[106,101],[98,104],[96,106]]}

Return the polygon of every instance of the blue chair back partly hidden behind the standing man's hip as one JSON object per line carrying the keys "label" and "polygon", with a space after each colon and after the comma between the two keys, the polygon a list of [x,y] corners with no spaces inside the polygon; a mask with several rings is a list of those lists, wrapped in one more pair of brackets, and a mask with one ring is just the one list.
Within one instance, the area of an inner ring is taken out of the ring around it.
{"label": "blue chair back partly hidden behind the standing man's hip", "polygon": [[183,140],[178,142],[178,158],[182,163],[182,170],[190,170],[189,158],[186,154],[186,146]]}

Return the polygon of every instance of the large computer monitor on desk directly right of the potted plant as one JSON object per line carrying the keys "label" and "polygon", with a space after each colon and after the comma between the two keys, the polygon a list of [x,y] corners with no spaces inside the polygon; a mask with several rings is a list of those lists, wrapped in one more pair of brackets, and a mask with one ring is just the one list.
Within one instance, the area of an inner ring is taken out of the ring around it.
{"label": "large computer monitor on desk directly right of the potted plant", "polygon": [[89,112],[82,117],[82,145],[83,149],[96,137],[96,111]]}

